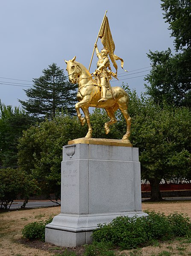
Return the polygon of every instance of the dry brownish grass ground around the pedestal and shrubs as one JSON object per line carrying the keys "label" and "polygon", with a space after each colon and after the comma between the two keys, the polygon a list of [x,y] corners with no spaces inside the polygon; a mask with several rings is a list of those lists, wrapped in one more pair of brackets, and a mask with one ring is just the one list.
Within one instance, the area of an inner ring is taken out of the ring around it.
{"label": "dry brownish grass ground around the pedestal and shrubs", "polygon": [[[187,201],[163,201],[160,203],[142,203],[143,211],[155,210],[169,214],[172,212],[182,212],[191,218],[191,200]],[[0,213],[0,256],[53,256],[55,253],[63,253],[66,248],[40,241],[28,241],[22,237],[22,228],[31,222],[47,219],[50,216],[58,215],[60,207],[50,207],[41,209],[18,210]],[[84,247],[68,248],[82,255]],[[138,250],[118,252],[118,255],[158,255],[167,251],[170,255],[191,256],[191,241],[176,240],[160,243],[159,246],[149,246]],[[165,254],[164,254],[165,255]]]}

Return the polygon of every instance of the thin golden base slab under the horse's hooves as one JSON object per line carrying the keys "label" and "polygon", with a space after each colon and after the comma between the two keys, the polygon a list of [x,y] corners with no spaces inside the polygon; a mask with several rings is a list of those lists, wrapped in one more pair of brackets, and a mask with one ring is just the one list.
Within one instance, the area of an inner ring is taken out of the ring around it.
{"label": "thin golden base slab under the horse's hooves", "polygon": [[76,138],[72,141],[68,141],[68,145],[71,144],[96,144],[96,145],[108,145],[108,146],[121,146],[132,147],[132,144],[128,140],[116,140],[108,138]]}

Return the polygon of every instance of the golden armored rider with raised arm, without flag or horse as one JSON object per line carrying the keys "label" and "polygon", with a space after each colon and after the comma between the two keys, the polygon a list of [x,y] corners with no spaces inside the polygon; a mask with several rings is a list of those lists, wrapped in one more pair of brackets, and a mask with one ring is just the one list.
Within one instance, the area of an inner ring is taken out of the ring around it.
{"label": "golden armored rider with raised arm, without flag or horse", "polygon": [[111,79],[112,74],[110,61],[108,58],[108,52],[106,49],[102,49],[101,52],[99,52],[97,44],[94,44],[94,46],[99,60],[97,62],[97,69],[93,74],[97,75],[97,77],[99,78],[102,91],[102,97],[100,98],[100,100],[98,100],[98,102],[107,101],[106,91],[107,89],[109,89],[109,79]]}

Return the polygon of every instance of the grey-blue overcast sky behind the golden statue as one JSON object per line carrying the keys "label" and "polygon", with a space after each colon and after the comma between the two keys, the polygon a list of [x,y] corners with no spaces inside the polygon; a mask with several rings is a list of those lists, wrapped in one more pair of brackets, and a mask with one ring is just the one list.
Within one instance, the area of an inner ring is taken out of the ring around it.
{"label": "grey-blue overcast sky behind the golden statue", "polygon": [[[32,86],[32,78],[40,77],[53,62],[65,69],[64,59],[76,55],[76,61],[88,68],[106,10],[115,54],[124,60],[124,68],[129,71],[124,74],[118,61],[122,80],[111,85],[125,82],[140,94],[144,91],[144,75],[150,69],[146,53],[173,49],[160,4],[160,0],[0,1],[1,102],[19,106],[18,99],[27,99],[23,90],[27,87],[22,86]],[[102,48],[100,39],[98,48]],[[94,55],[91,72],[96,69],[96,62]]]}

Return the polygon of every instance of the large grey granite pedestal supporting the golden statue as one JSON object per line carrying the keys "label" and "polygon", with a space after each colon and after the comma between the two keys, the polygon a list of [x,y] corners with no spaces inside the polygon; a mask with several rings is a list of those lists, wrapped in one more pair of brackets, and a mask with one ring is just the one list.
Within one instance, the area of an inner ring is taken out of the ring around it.
{"label": "large grey granite pedestal supporting the golden statue", "polygon": [[65,247],[90,243],[97,224],[120,215],[145,215],[138,148],[65,146],[61,181],[61,213],[46,226],[46,242]]}

